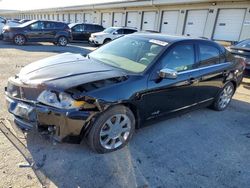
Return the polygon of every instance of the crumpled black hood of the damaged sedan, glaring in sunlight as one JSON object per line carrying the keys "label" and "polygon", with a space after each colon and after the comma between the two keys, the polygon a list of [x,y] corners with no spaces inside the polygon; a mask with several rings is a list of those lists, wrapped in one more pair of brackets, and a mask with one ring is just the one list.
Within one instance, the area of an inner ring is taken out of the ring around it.
{"label": "crumpled black hood of the damaged sedan, glaring in sunlight", "polygon": [[64,53],[25,66],[18,77],[27,85],[43,84],[65,90],[80,84],[124,76],[119,69],[83,57]]}

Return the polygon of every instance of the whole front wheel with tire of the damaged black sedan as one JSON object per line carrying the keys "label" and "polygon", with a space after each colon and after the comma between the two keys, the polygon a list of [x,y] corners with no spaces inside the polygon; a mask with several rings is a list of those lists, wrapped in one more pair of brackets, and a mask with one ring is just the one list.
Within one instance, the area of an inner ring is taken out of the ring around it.
{"label": "whole front wheel with tire of the damaged black sedan", "polygon": [[123,148],[135,131],[135,117],[125,106],[114,106],[102,113],[91,125],[87,143],[97,153]]}

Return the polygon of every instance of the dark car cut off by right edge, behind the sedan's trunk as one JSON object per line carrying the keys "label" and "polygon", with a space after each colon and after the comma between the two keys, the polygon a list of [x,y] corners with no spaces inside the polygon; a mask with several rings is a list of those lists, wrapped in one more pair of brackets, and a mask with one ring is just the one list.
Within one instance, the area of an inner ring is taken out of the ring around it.
{"label": "dark car cut off by right edge, behind the sedan's trunk", "polygon": [[250,39],[243,40],[234,46],[229,47],[229,51],[242,57],[246,64],[246,70],[250,71]]}

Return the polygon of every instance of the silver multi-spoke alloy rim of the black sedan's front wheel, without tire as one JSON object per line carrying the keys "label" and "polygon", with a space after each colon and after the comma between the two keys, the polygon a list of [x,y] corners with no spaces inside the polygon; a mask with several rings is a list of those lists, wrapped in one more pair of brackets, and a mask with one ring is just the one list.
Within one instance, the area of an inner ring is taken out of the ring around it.
{"label": "silver multi-spoke alloy rim of the black sedan's front wheel, without tire", "polygon": [[130,134],[131,120],[125,114],[110,117],[100,131],[100,143],[105,149],[116,149],[124,144]]}

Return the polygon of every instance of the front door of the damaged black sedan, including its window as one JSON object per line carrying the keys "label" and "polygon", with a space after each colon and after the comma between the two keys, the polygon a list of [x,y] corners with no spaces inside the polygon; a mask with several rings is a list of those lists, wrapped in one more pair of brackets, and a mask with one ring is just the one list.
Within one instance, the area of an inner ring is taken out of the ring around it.
{"label": "front door of the damaged black sedan, including its window", "polygon": [[[196,104],[199,72],[196,71],[194,44],[178,44],[163,55],[142,96],[147,104],[146,119],[186,109]],[[160,79],[156,74],[163,68],[178,72],[175,79]]]}

